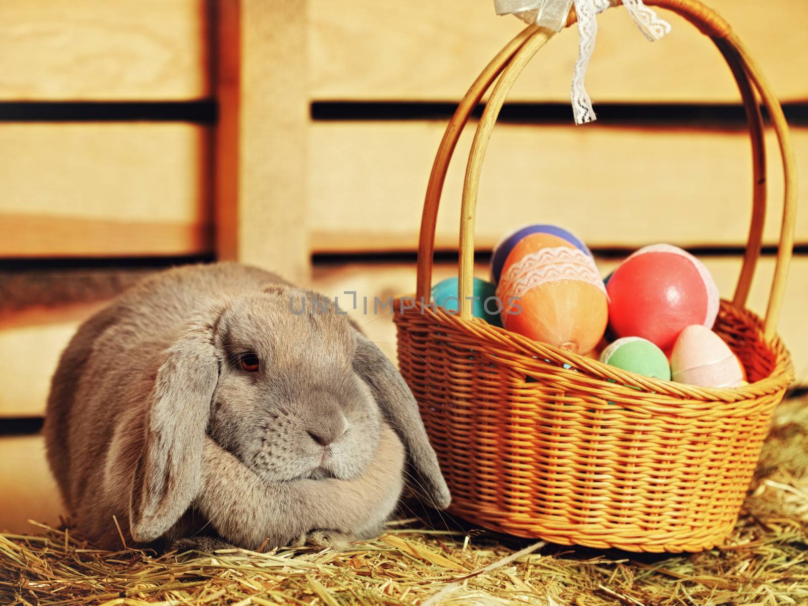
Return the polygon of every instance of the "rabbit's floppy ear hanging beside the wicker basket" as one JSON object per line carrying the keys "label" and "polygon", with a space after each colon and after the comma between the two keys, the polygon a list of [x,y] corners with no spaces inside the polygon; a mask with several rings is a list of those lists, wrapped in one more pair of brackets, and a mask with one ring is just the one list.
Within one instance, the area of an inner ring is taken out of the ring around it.
{"label": "rabbit's floppy ear hanging beside the wicker basket", "polygon": [[406,446],[407,462],[415,484],[413,488],[432,506],[448,507],[451,496],[423,427],[418,402],[387,356],[359,330],[356,330],[353,368],[368,384],[385,418]]}

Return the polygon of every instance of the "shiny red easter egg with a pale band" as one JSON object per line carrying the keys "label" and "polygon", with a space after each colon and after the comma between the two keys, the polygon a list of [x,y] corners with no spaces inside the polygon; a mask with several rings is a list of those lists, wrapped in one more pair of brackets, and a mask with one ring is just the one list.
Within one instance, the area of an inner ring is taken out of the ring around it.
{"label": "shiny red easter egg with a pale band", "polygon": [[613,272],[606,287],[609,326],[617,337],[642,337],[662,349],[686,326],[712,328],[718,287],[701,261],[669,244],[645,246]]}

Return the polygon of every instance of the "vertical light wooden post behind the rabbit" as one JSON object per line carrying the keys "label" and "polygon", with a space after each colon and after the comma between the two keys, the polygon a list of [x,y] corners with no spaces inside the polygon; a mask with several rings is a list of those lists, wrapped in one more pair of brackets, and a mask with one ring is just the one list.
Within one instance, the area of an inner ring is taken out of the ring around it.
{"label": "vertical light wooden post behind the rabbit", "polygon": [[217,0],[219,259],[309,277],[305,0]]}

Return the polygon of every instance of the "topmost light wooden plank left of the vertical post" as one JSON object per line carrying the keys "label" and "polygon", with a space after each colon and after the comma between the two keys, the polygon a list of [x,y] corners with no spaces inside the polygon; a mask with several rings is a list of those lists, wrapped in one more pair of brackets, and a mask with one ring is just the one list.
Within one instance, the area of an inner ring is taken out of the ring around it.
{"label": "topmost light wooden plank left of the vertical post", "polygon": [[206,0],[3,0],[0,99],[211,94]]}

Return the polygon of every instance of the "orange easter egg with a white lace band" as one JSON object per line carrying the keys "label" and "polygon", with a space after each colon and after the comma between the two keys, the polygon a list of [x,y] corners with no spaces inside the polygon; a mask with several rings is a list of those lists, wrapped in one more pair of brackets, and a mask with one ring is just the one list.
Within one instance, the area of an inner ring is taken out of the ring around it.
{"label": "orange easter egg with a white lace band", "polygon": [[[511,250],[497,285],[507,330],[587,354],[603,337],[608,301],[595,260],[570,242],[538,240]],[[520,246],[518,244],[517,246]],[[534,250],[535,249],[535,250]]]}

